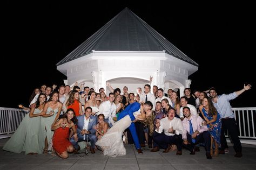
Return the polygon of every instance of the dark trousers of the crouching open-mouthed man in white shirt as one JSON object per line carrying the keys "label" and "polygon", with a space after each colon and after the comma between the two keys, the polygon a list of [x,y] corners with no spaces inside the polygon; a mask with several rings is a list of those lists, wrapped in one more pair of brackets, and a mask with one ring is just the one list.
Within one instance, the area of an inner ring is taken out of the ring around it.
{"label": "dark trousers of the crouching open-mouthed man in white shirt", "polygon": [[167,136],[164,133],[155,132],[153,135],[154,147],[158,146],[159,148],[168,148],[170,145],[177,145],[178,151],[182,149],[182,136],[181,134],[174,134],[174,136]]}

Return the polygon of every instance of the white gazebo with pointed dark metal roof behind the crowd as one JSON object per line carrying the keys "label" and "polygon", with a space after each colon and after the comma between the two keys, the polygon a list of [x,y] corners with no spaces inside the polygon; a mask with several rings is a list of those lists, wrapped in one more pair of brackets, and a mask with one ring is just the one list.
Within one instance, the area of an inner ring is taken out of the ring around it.
{"label": "white gazebo with pointed dark metal roof behind the crowd", "polygon": [[182,92],[190,87],[188,76],[198,64],[125,8],[59,61],[57,69],[70,86],[85,82],[98,91],[110,82],[113,88],[127,86],[135,92],[153,76],[151,85],[166,93],[169,88]]}

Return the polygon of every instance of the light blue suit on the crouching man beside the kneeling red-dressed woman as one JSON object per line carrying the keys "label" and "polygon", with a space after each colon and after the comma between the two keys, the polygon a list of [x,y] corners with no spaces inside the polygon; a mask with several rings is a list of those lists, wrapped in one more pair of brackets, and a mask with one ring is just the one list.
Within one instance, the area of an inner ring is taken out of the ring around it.
{"label": "light blue suit on the crouching man beside the kneeling red-dressed woman", "polygon": [[73,137],[70,139],[70,142],[72,143],[72,145],[75,147],[76,150],[78,148],[79,141],[86,141],[88,138],[88,141],[91,141],[92,148],[95,148],[95,143],[97,141],[97,137],[95,135],[96,130],[93,128],[93,126],[96,126],[96,122],[97,122],[96,117],[90,116],[89,124],[87,128],[88,131],[90,131],[90,134],[85,135],[85,139],[84,139],[84,136],[81,134],[81,131],[83,130],[83,127],[84,127],[84,119],[85,119],[85,115],[77,117],[77,138],[78,138],[77,142]]}

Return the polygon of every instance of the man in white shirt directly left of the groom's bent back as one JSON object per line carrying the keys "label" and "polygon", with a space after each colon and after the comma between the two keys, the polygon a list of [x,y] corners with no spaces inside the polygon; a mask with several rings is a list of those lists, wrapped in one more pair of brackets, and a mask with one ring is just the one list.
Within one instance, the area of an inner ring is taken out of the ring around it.
{"label": "man in white shirt directly left of the groom's bent back", "polygon": [[104,122],[109,123],[110,127],[113,126],[113,117],[116,117],[116,105],[113,103],[114,94],[109,94],[109,100],[99,105],[99,112],[96,115],[103,114],[105,116]]}

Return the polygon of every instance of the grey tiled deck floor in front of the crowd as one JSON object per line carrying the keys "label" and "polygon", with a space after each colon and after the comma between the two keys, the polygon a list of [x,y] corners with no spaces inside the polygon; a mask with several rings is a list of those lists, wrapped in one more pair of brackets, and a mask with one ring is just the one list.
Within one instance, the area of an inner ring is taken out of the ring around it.
{"label": "grey tiled deck floor in front of the crowd", "polygon": [[138,154],[133,145],[125,145],[127,154],[123,157],[111,158],[102,152],[85,155],[70,154],[68,159],[52,157],[49,155],[25,155],[3,151],[3,145],[8,139],[0,139],[0,169],[256,169],[256,145],[242,144],[242,158],[234,157],[232,144],[230,152],[219,155],[212,160],[207,160],[205,150],[200,147],[200,152],[190,155],[183,150],[183,155],[176,152],[162,153],[150,152],[145,147],[143,154]]}

